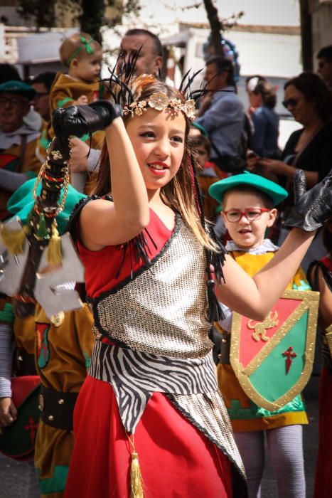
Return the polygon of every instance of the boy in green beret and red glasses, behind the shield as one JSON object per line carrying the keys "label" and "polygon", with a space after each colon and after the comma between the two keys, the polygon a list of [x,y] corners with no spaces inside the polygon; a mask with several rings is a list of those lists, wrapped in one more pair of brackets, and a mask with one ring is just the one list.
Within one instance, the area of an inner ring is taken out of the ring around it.
{"label": "boy in green beret and red glasses, behind the shield", "polygon": [[[209,192],[223,207],[221,214],[231,239],[225,246],[228,254],[248,275],[255,275],[279,250],[264,235],[273,226],[275,206],[287,198],[287,191],[274,181],[246,172],[218,181]],[[287,289],[310,289],[301,268],[291,277]],[[247,396],[230,365],[232,310],[223,307],[223,312],[224,319],[215,324],[223,337],[218,385],[245,465],[249,497],[261,495],[266,439],[278,496],[305,498],[301,424],[307,424],[308,418],[304,401],[298,394],[282,408],[271,411]],[[281,369],[284,366],[282,356],[279,365]]]}

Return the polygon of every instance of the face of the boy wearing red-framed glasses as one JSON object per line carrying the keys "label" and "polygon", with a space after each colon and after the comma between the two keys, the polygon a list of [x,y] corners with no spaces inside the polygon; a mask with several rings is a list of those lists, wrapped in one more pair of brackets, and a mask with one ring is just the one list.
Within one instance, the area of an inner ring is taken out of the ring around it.
{"label": "face of the boy wearing red-framed glasses", "polygon": [[[225,216],[225,211],[234,209],[243,212],[248,210],[248,208],[266,209],[262,199],[254,193],[231,191],[225,194],[221,215],[223,216],[230,238],[240,248],[256,248],[261,245],[266,229],[273,225],[277,216],[277,209],[275,208],[263,211],[255,221],[248,220],[245,214],[240,215],[240,220],[235,222],[228,221]],[[252,210],[253,213],[255,211],[257,210]]]}

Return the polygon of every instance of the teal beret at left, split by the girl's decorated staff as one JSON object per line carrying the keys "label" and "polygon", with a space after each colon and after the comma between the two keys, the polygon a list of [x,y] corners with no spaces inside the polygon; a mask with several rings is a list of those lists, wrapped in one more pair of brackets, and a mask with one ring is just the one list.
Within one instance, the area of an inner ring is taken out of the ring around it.
{"label": "teal beret at left, split by the girl's decorated staff", "polygon": [[[7,203],[7,209],[9,213],[14,216],[18,216],[20,218],[23,225],[26,224],[26,220],[28,218],[28,214],[33,208],[34,199],[33,199],[33,187],[35,186],[36,178],[26,181],[23,185],[18,187],[18,189],[14,192],[14,194],[9,198]],[[41,184],[38,185],[37,194],[41,192]],[[73,188],[73,186],[68,185],[68,193],[65,198],[65,207],[63,211],[60,211],[58,216],[56,217],[56,221],[58,223],[58,231],[59,233],[63,233],[65,227],[67,226],[68,220],[70,218],[70,214],[73,211],[73,208],[80,201],[81,198],[85,198],[84,194],[80,194],[77,190]],[[60,202],[63,198],[63,190],[61,191]]]}

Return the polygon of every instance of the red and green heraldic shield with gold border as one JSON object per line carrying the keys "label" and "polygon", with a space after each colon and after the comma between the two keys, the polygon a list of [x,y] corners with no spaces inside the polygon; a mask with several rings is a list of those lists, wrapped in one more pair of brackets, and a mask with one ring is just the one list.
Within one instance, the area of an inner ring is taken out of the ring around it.
{"label": "red and green heraldic shield with gold border", "polygon": [[286,290],[263,322],[233,313],[230,364],[247,396],[278,410],[309,381],[319,292]]}

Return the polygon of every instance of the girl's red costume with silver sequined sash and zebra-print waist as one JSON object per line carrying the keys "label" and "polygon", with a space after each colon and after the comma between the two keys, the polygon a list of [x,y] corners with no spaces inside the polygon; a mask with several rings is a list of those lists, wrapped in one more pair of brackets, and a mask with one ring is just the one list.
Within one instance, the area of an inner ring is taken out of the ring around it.
{"label": "girl's red costume with silver sequined sash and zebra-print waist", "polygon": [[97,341],[65,496],[127,496],[132,444],[147,496],[232,496],[230,465],[233,496],[246,496],[208,339],[203,248],[180,216],[169,231],[150,213],[121,247],[93,252],[77,240]]}

